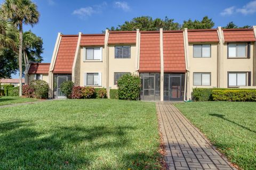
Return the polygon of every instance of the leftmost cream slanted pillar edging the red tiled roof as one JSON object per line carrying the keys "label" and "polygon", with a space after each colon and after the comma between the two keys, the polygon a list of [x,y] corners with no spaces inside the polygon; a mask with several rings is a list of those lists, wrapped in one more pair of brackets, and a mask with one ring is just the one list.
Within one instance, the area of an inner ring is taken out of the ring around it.
{"label": "leftmost cream slanted pillar edging the red tiled roof", "polygon": [[49,76],[48,76],[48,82],[49,82],[49,87],[50,87],[50,97],[53,97],[53,78],[52,78],[52,71],[54,69],[54,65],[56,62],[56,57],[57,57],[57,53],[59,50],[59,46],[60,46],[60,40],[61,40],[61,33],[58,33],[58,37],[54,46],[54,50],[53,50],[53,54],[52,54],[52,60],[51,60],[51,64],[50,64],[50,70],[49,70]]}

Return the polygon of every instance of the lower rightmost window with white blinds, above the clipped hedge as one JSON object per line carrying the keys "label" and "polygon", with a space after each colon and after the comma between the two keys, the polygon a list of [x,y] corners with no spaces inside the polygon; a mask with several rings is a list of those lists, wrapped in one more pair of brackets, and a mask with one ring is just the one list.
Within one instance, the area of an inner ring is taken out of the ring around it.
{"label": "lower rightmost window with white blinds, above the clipped hedge", "polygon": [[[246,80],[247,80],[246,72],[228,72],[228,87],[246,86],[247,84]],[[249,80],[250,80],[250,76],[249,76]],[[249,82],[249,85],[250,85],[250,82]]]}

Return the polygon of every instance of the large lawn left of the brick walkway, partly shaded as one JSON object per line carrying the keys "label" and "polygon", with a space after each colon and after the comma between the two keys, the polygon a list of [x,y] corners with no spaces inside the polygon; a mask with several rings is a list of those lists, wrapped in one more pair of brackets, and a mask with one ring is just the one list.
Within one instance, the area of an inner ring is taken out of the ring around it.
{"label": "large lawn left of the brick walkway, partly shaded", "polygon": [[0,169],[161,168],[154,103],[53,100],[0,117]]}

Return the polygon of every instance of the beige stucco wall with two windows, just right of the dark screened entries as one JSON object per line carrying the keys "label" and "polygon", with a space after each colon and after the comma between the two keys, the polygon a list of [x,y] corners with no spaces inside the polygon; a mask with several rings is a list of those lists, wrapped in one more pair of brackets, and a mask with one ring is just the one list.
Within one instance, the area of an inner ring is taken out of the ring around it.
{"label": "beige stucco wall with two windows, just right of the dark screened entries", "polygon": [[[208,58],[194,58],[193,45],[189,43],[189,91],[192,92],[193,88],[213,88],[217,87],[218,83],[218,44],[217,43],[200,43],[211,44],[211,57]],[[211,86],[194,86],[193,74],[196,72],[211,73]],[[191,95],[191,94],[190,94]]]}

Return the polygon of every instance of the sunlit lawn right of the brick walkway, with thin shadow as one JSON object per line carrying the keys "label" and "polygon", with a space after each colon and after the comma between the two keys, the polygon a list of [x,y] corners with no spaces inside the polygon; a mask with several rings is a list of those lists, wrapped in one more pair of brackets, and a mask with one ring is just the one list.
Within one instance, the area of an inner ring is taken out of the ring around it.
{"label": "sunlit lawn right of the brick walkway, with thin shadow", "polygon": [[256,103],[195,102],[175,106],[232,163],[243,169],[256,168]]}

